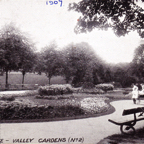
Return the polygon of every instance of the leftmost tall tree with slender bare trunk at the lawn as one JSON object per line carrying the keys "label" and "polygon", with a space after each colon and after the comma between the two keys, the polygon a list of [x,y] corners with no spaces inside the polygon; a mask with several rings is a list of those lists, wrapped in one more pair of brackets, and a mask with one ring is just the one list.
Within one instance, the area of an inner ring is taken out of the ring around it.
{"label": "leftmost tall tree with slender bare trunk at the lawn", "polygon": [[6,72],[6,88],[8,87],[8,71],[18,70],[20,41],[20,33],[15,27],[8,25],[1,30],[0,50],[3,53],[3,57],[0,59],[1,66]]}

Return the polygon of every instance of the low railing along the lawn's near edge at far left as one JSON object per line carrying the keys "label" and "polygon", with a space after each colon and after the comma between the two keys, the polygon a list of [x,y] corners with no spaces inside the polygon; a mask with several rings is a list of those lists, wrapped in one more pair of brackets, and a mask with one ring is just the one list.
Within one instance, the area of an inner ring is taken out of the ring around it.
{"label": "low railing along the lawn's near edge at far left", "polygon": [[36,90],[39,87],[38,84],[0,84],[0,91],[4,90]]}

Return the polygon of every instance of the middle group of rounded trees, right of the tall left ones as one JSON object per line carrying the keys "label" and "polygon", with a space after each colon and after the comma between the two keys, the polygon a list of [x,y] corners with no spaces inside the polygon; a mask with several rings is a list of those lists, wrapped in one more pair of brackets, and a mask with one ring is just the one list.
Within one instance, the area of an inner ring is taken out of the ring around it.
{"label": "middle group of rounded trees, right of the tall left ones", "polygon": [[84,82],[98,83],[102,78],[104,61],[87,43],[69,44],[57,50],[55,43],[43,48],[35,71],[45,72],[49,79],[61,75],[66,83],[78,86]]}

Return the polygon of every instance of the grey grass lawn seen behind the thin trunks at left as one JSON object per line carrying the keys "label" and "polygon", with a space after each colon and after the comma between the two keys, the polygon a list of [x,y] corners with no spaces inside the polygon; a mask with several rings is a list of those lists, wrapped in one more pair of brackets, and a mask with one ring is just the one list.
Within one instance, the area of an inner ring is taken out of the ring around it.
{"label": "grey grass lawn seen behind the thin trunks at left", "polygon": [[[38,86],[44,86],[48,84],[48,78],[44,73],[41,75],[34,73],[26,73],[24,79],[24,86],[22,87],[22,74],[21,72],[10,72],[8,75],[8,90],[34,90]],[[51,78],[51,84],[65,84],[65,80],[61,76],[55,76]],[[0,76],[0,90],[5,90],[5,74]]]}

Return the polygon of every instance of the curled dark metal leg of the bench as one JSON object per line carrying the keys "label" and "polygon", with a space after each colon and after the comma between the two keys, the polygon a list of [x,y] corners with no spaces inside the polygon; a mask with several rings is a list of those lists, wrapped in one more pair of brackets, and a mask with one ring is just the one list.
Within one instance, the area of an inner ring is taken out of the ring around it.
{"label": "curled dark metal leg of the bench", "polygon": [[134,135],[135,134],[135,128],[132,125],[121,125],[120,131],[123,134],[126,135]]}

